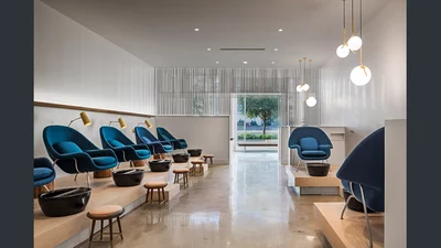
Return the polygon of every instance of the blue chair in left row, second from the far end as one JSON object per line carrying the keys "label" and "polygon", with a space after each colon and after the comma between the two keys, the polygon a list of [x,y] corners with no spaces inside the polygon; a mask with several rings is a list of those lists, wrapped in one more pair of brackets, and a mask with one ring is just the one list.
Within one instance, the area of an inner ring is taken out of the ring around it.
{"label": "blue chair in left row, second from the far end", "polygon": [[147,144],[153,154],[170,153],[173,151],[173,147],[169,141],[160,141],[144,127],[135,128],[135,138],[137,143]]}

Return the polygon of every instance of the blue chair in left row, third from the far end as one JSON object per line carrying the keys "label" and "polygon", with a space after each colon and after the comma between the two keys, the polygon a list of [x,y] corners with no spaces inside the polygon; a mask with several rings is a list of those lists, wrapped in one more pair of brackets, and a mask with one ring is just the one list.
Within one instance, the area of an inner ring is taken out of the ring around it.
{"label": "blue chair in left row, third from the far end", "polygon": [[99,129],[103,148],[114,150],[118,157],[118,162],[130,162],[133,166],[133,160],[147,160],[151,153],[146,144],[136,144],[120,130],[114,127],[104,126]]}

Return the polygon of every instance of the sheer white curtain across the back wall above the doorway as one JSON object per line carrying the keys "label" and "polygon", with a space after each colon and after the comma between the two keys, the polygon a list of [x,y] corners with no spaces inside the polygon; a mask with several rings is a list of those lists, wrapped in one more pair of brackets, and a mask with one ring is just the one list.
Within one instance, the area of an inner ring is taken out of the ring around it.
{"label": "sheer white curtain across the back wall above the doorway", "polygon": [[[233,93],[273,93],[281,94],[282,125],[297,125],[298,74],[295,68],[155,68],[157,114],[229,116]],[[310,90],[320,96],[320,69],[311,75]],[[309,125],[319,125],[319,103],[306,107]]]}

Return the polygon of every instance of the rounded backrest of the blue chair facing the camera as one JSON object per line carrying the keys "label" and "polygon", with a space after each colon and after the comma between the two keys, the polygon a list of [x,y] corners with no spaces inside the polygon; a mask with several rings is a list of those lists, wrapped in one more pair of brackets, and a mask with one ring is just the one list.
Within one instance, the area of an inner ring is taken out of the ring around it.
{"label": "rounded backrest of the blue chair facing the camera", "polygon": [[[299,127],[299,128],[295,128],[291,132],[289,141],[288,141],[288,145],[298,144],[298,145],[302,147],[302,143],[303,144],[313,144],[312,139],[305,139],[305,138],[313,138],[315,140],[315,142],[318,142],[318,145],[332,144],[330,138],[326,136],[326,133],[322,129],[316,128],[316,127]],[[300,142],[301,140],[302,140],[302,143]],[[305,141],[308,141],[308,142],[305,142]],[[302,147],[302,149],[303,149],[303,147]]]}

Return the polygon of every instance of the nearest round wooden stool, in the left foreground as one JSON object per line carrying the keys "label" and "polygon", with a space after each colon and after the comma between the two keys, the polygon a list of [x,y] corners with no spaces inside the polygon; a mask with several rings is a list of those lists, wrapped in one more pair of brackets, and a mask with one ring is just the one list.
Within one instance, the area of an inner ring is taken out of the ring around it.
{"label": "nearest round wooden stool, in the left foreground", "polygon": [[[121,236],[121,239],[123,239],[122,237],[122,229],[121,229],[121,222],[119,220],[119,216],[121,216],[125,213],[125,208],[118,205],[105,205],[105,206],[100,206],[100,207],[96,207],[94,209],[90,209],[87,213],[87,217],[92,219],[92,229],[90,229],[90,237],[89,237],[89,246],[92,245],[93,241],[93,237],[94,237],[94,230],[95,230],[95,223],[96,220],[100,220],[101,222],[101,229],[100,229],[100,238],[99,240],[103,240],[103,234],[109,234],[110,235],[110,242],[114,240],[114,228],[112,228],[112,218],[117,218],[118,222],[118,228],[119,228],[119,233],[115,233],[116,235]],[[109,233],[103,233],[103,227],[104,227],[104,220],[108,220],[109,222]],[[99,242],[99,241],[98,241]]]}

